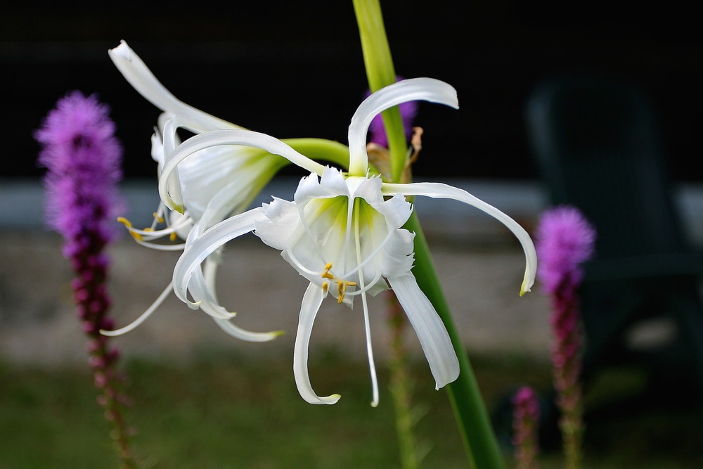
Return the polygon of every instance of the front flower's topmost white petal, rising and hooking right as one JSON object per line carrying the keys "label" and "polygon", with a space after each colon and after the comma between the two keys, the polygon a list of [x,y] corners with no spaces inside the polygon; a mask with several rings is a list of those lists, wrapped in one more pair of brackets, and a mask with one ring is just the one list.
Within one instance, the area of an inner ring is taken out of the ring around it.
{"label": "front flower's topmost white petal, rising and hooking right", "polygon": [[383,110],[408,101],[430,101],[459,108],[456,89],[434,78],[404,79],[385,86],[366,98],[349,124],[349,174],[366,176],[368,155],[366,133],[373,117]]}

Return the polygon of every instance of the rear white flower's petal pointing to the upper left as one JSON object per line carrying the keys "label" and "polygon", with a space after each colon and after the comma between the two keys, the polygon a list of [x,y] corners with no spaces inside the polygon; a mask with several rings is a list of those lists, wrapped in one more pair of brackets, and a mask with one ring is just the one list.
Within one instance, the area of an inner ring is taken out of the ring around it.
{"label": "rear white flower's petal pointing to the upper left", "polygon": [[108,55],[117,70],[120,70],[127,82],[141,96],[160,110],[188,115],[194,122],[197,122],[195,131],[241,128],[226,120],[203,113],[176,98],[159,82],[143,60],[127,45],[126,41],[120,41],[119,46],[108,50]]}

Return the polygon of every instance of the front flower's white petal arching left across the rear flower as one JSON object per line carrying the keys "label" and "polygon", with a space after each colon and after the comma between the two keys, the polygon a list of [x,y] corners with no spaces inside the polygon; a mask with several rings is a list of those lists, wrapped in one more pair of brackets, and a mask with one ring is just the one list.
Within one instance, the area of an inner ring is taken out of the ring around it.
{"label": "front flower's white petal arching left across the rear flower", "polygon": [[205,134],[195,135],[181,143],[165,163],[159,180],[159,193],[167,207],[179,212],[183,210],[183,207],[172,200],[167,191],[169,174],[176,169],[183,159],[188,158],[189,155],[192,155],[198,150],[218,145],[245,145],[261,148],[274,155],[280,155],[293,164],[316,174],[322,174],[325,169],[320,163],[307,158],[282,141],[274,139],[272,136],[266,134],[241,129],[209,131]]}

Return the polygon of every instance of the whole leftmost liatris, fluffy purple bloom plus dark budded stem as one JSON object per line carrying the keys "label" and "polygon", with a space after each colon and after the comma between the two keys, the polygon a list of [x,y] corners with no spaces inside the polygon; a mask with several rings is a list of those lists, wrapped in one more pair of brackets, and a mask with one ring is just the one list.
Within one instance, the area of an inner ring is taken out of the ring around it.
{"label": "whole leftmost liatris, fluffy purple bloom plus dark budded stem", "polygon": [[115,233],[110,223],[115,224],[116,213],[122,210],[117,196],[122,148],[108,112],[96,96],[86,98],[74,91],[56,103],[35,137],[42,145],[39,163],[49,169],[44,178],[48,223],[63,236],[63,253],[76,275],[72,289],[88,337],[93,381],[101,392],[98,403],[112,424],[110,436],[122,467],[136,468],[122,416],[127,397],[115,371],[119,353],[100,333],[113,328],[106,286],[109,260],[103,250]]}

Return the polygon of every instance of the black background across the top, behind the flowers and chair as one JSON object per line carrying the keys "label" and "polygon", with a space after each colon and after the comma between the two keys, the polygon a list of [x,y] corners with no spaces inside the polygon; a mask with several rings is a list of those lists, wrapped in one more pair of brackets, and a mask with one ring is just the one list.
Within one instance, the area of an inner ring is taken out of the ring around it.
{"label": "black background across the top, behind the flowers and chair", "polygon": [[[692,169],[703,106],[697,15],[671,3],[635,5],[382,1],[396,72],[442,79],[458,91],[458,111],[420,108],[418,179],[534,179],[524,102],[541,79],[583,72],[640,87],[674,178],[703,180]],[[42,174],[32,131],[72,89],[110,104],[126,176],[155,175],[150,134],[158,111],[108,58],[120,39],[181,101],[278,138],[346,143],[366,89],[352,1],[13,2],[0,13],[0,176]]]}

